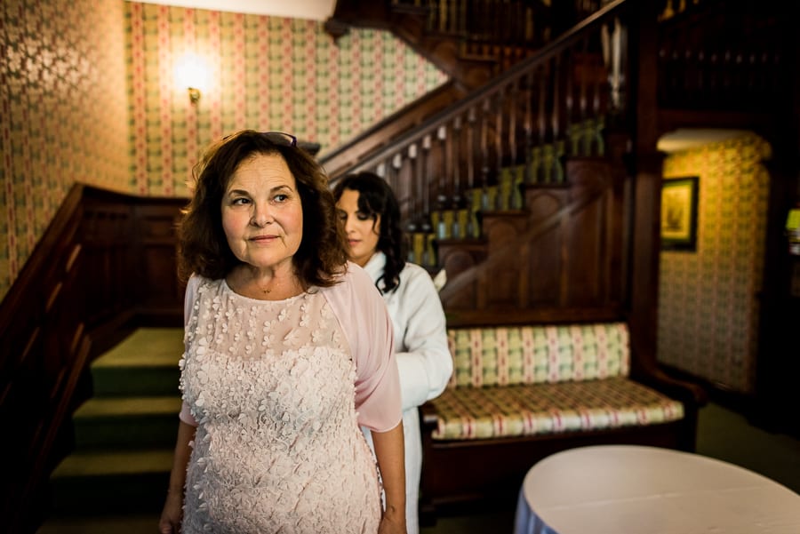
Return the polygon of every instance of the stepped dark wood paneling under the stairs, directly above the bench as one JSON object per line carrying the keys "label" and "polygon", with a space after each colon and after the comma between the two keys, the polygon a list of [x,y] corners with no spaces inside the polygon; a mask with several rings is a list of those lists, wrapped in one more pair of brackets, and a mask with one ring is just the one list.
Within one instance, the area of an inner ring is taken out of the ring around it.
{"label": "stepped dark wood paneling under the stairs, directly above the bench", "polygon": [[619,194],[625,173],[606,159],[573,158],[566,174],[566,185],[529,188],[525,211],[486,213],[483,243],[440,248],[448,274],[440,296],[449,316],[484,312],[492,324],[498,314],[532,309],[548,323],[564,310],[621,313],[628,291],[619,274],[628,250],[622,221],[629,206]]}

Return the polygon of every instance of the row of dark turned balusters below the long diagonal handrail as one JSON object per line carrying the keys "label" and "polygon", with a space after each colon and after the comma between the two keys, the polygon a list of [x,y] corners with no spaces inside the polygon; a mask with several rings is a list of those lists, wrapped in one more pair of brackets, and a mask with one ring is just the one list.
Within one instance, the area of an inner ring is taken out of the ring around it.
{"label": "row of dark turned balusters below the long diagonal handrail", "polygon": [[[455,4],[437,5],[452,22]],[[480,9],[473,6],[470,14]],[[480,236],[478,211],[520,209],[520,186],[559,183],[564,154],[582,153],[586,139],[602,142],[611,76],[603,52],[613,53],[606,52],[597,26],[593,35],[382,156],[375,166],[398,195],[404,226],[417,234],[412,259],[434,261],[433,234],[438,239]],[[615,72],[621,76],[624,66]],[[564,147],[565,139],[572,139],[570,148]]]}

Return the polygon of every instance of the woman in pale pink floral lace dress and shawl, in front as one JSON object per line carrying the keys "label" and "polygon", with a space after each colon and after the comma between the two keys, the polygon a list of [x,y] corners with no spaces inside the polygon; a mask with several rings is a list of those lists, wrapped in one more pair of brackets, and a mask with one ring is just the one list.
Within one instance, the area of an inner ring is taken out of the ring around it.
{"label": "woman in pale pink floral lace dress and shawl, in front", "polygon": [[291,135],[239,132],[200,163],[162,532],[405,532],[391,321],[335,217]]}

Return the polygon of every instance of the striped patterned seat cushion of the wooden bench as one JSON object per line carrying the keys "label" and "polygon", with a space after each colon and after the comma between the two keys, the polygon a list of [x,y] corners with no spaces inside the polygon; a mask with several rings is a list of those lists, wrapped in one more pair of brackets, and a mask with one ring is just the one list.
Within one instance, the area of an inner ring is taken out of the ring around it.
{"label": "striped patterned seat cushion of the wooden bench", "polygon": [[642,426],[684,417],[684,406],[633,380],[446,389],[432,401],[436,440]]}

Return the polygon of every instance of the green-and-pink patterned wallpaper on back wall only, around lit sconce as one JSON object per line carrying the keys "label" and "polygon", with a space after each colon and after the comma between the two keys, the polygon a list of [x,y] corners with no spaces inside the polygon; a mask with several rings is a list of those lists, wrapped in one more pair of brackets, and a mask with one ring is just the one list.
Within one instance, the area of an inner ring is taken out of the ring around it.
{"label": "green-and-pink patterned wallpaper on back wall only, around lit sconce", "polygon": [[[320,155],[446,81],[388,32],[336,43],[314,20],[126,3],[132,189],[186,195],[202,149],[243,128],[292,132]],[[175,70],[207,73],[196,105]]]}

